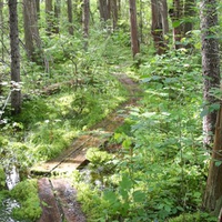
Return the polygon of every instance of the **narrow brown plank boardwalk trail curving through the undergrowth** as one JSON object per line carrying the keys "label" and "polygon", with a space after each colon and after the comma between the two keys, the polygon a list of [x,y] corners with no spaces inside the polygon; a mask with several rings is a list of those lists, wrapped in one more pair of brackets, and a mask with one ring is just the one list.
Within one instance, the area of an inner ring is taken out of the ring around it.
{"label": "narrow brown plank boardwalk trail curving through the undergrowth", "polygon": [[77,202],[77,190],[71,181],[63,176],[50,178],[54,174],[69,174],[87,163],[85,153],[89,148],[99,148],[113,135],[114,130],[123,124],[130,108],[139,105],[139,83],[124,73],[114,73],[118,80],[129,91],[129,99],[120,104],[104,120],[92,127],[73,141],[70,148],[58,158],[31,169],[41,175],[38,181],[39,196],[43,213],[38,222],[85,222],[81,205]]}

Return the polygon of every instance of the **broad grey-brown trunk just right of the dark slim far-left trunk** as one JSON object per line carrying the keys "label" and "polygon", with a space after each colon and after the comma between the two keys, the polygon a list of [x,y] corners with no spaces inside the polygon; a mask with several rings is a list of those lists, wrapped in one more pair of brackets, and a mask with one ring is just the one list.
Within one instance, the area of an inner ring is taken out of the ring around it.
{"label": "broad grey-brown trunk just right of the dark slim far-left trunk", "polygon": [[40,61],[41,40],[39,36],[36,1],[23,0],[24,42],[31,61]]}

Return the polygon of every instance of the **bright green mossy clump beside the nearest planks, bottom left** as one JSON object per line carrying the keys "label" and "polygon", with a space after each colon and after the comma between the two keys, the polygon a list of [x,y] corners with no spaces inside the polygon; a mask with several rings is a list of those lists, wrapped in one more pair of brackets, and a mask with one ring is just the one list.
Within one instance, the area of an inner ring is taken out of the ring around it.
{"label": "bright green mossy clump beside the nearest planks, bottom left", "polygon": [[13,216],[19,220],[37,221],[42,210],[38,196],[37,180],[26,180],[18,183],[11,191],[11,198],[20,203],[20,208],[13,209]]}

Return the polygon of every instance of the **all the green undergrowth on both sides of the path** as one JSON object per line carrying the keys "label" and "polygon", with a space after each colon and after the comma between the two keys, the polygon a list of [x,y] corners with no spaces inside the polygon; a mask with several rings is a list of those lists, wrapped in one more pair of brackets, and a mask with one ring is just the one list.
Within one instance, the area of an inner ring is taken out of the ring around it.
{"label": "all the green undergrowth on both sides of the path", "polygon": [[[119,29],[112,30],[109,21],[107,27],[99,21],[95,10],[92,2],[94,20],[87,50],[80,24],[70,36],[69,23],[62,20],[60,33],[48,36],[44,17],[40,18],[44,65],[28,60],[21,50],[22,110],[18,115],[11,115],[9,105],[10,58],[4,49],[9,39],[7,29],[2,31],[0,200],[16,199],[20,208],[12,215],[37,221],[41,209],[37,180],[30,179],[29,169],[59,155],[128,99],[113,75],[122,72],[141,87],[138,107],[131,108],[105,147],[89,149],[89,165],[72,173],[88,221],[216,221],[202,211],[211,152],[202,145],[206,111],[200,31],[181,40],[184,48],[174,49],[169,39],[163,54],[154,53],[151,36],[144,31],[141,52],[132,58],[124,13]],[[150,18],[150,10],[147,13]],[[20,34],[22,39],[22,26]],[[7,191],[7,172],[13,167],[21,182]]]}

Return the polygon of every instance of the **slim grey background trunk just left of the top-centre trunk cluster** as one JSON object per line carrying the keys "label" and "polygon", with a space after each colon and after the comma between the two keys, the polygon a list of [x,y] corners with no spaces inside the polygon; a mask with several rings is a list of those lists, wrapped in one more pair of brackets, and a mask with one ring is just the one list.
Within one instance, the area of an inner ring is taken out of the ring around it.
{"label": "slim grey background trunk just left of the top-centre trunk cluster", "polygon": [[84,38],[84,49],[88,49],[88,37],[89,37],[89,22],[90,22],[90,2],[84,0],[83,2],[83,38]]}

